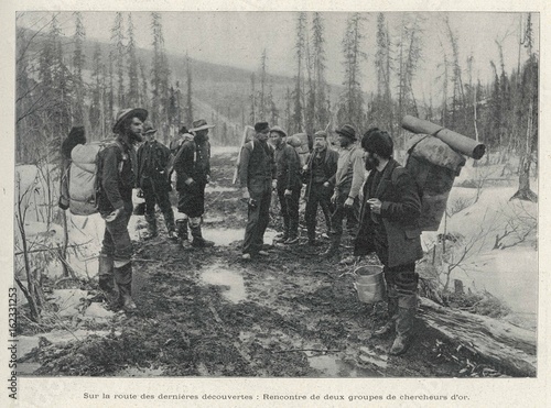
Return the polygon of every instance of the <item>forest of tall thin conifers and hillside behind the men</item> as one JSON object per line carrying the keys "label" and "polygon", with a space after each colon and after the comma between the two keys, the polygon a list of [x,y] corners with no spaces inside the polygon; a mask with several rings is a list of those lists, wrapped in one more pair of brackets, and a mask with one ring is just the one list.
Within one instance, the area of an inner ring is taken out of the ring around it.
{"label": "forest of tall thin conifers and hillside behind the men", "polygon": [[[74,19],[73,33],[62,32],[61,14]],[[460,49],[447,16],[441,19],[435,78],[423,75],[425,14],[403,13],[391,30],[385,13],[350,13],[342,54],[327,55],[327,22],[318,12],[296,13],[293,78],[269,74],[268,46],[258,67],[249,73],[227,68],[231,75],[223,78],[205,76],[205,65],[187,57],[185,44],[182,55],[166,53],[160,13],[150,13],[149,27],[140,27],[151,33],[150,49],[138,47],[130,12],[115,13],[109,44],[86,38],[83,13],[53,13],[35,26],[17,27],[17,162],[53,161],[73,125],[84,124],[91,140],[109,137],[116,112],[141,106],[164,140],[201,114],[217,124],[215,143],[228,145],[239,143],[245,124],[268,120],[290,133],[341,123],[360,131],[376,125],[389,130],[402,147],[400,119],[412,114],[476,137],[490,152],[516,154],[520,169],[529,169],[538,147],[539,111],[531,14],[519,13],[518,30],[507,34],[518,40],[518,64],[510,71],[504,63],[505,36],[495,40],[500,57],[488,62],[494,78],[487,84],[474,71],[474,56]],[[366,53],[368,35],[375,35],[376,46]],[[326,80],[328,58],[342,62],[337,86]],[[375,77],[366,76],[367,64],[375,67]],[[369,93],[363,91],[367,81],[376,82]],[[417,81],[430,81],[439,97],[415,95]]]}

